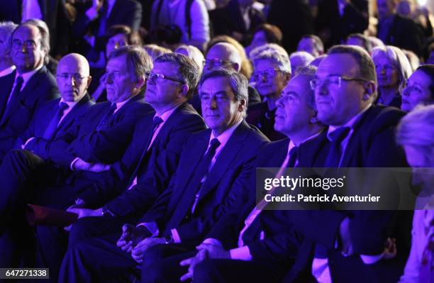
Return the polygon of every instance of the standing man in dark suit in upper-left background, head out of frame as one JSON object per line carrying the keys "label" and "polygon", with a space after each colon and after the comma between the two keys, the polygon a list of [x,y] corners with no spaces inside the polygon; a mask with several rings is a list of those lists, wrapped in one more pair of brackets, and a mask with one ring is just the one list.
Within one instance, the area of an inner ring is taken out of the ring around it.
{"label": "standing man in dark suit in upper-left background, head out of frame", "polygon": [[[72,25],[72,34],[79,40],[79,51],[86,53],[91,62],[100,60],[104,67],[107,30],[113,25],[126,25],[137,32],[141,21],[142,5],[136,0],[87,1],[77,5],[77,19]],[[91,64],[91,67],[101,66]]]}

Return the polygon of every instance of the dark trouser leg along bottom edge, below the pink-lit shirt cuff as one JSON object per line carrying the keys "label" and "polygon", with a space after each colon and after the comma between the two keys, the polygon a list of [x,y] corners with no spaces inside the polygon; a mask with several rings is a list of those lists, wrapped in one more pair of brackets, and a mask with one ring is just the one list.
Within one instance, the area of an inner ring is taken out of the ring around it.
{"label": "dark trouser leg along bottom edge, below the pink-lit shirt cuff", "polygon": [[194,283],[281,282],[284,272],[266,262],[204,260],[196,265]]}

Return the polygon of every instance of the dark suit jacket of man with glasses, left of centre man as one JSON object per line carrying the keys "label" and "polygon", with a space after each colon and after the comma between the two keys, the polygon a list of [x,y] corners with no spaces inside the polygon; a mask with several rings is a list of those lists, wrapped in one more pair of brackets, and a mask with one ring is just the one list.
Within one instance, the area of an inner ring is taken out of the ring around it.
{"label": "dark suit jacket of man with glasses, left of centre man", "polygon": [[[115,216],[143,215],[169,186],[185,140],[191,133],[206,128],[201,116],[184,103],[169,116],[152,147],[146,151],[146,141],[152,138],[153,117],[152,113],[138,123],[122,159],[101,178],[104,182],[79,196],[88,206],[100,207],[108,202],[106,208]],[[138,184],[127,190],[135,177],[138,177]]]}

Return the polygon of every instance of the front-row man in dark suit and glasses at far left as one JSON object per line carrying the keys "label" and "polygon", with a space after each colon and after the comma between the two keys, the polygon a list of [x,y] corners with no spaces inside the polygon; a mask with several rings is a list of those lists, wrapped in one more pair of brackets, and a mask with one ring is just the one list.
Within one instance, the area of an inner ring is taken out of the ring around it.
{"label": "front-row man in dark suit and glasses at far left", "polygon": [[48,50],[43,28],[22,24],[13,31],[11,58],[16,71],[0,78],[0,160],[26,131],[35,109],[58,96],[55,78],[44,65]]}

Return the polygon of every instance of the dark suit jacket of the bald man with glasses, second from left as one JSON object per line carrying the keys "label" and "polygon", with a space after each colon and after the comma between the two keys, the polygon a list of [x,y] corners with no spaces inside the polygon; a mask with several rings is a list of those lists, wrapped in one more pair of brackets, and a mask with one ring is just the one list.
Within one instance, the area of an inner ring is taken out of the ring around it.
{"label": "dark suit jacket of the bald man with glasses, second from left", "polygon": [[91,100],[89,94],[85,94],[82,99],[77,102],[74,108],[67,113],[67,116],[62,119],[59,125],[57,125],[52,139],[46,140],[43,138],[43,135],[47,127],[50,125],[51,119],[55,116],[59,103],[60,99],[55,99],[40,107],[40,109],[35,113],[35,118],[33,118],[27,131],[18,137],[15,148],[21,149],[21,145],[24,145],[29,138],[33,138],[33,140],[30,140],[30,142],[27,143],[25,149],[30,150],[44,160],[48,160],[47,148],[50,146],[49,144],[51,140],[55,140],[56,138],[65,135],[74,123],[82,121],[87,111],[95,104],[94,101]]}

